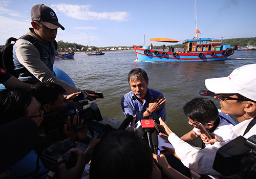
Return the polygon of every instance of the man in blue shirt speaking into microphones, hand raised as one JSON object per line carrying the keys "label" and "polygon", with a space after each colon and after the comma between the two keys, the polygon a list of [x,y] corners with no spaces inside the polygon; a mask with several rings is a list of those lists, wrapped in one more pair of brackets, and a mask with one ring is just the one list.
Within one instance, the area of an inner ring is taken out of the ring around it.
{"label": "man in blue shirt speaking into microphones, hand raised", "polygon": [[125,117],[142,111],[143,116],[151,116],[154,111],[165,120],[165,97],[161,92],[147,88],[148,77],[143,69],[133,69],[128,74],[128,82],[132,89],[121,99],[121,106]]}

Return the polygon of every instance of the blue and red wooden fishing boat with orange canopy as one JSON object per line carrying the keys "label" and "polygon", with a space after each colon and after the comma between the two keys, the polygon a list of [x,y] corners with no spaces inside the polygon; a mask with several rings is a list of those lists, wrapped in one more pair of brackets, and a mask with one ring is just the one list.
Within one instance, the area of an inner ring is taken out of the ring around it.
{"label": "blue and red wooden fishing boat with orange canopy", "polygon": [[[162,42],[178,42],[179,40],[168,40],[161,38]],[[164,52],[159,50],[150,50],[148,47],[138,48],[134,46],[137,60],[150,62],[206,62],[225,60],[234,53],[230,44],[222,46],[222,40],[214,38],[200,38],[184,40],[183,52]]]}

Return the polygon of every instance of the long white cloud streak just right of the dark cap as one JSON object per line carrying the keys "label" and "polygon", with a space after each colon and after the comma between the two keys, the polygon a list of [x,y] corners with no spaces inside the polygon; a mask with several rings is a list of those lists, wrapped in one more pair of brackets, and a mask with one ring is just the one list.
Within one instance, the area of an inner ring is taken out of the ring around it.
{"label": "long white cloud streak just right of the dark cap", "polygon": [[57,4],[51,5],[55,11],[62,12],[63,14],[82,20],[100,20],[108,19],[115,21],[126,21],[127,12],[92,12],[90,5],[68,5]]}

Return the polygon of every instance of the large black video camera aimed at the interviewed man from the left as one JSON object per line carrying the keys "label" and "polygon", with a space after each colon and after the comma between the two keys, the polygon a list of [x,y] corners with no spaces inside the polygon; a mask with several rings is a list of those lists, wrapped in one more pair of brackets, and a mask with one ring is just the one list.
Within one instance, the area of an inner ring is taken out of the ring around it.
{"label": "large black video camera aimed at the interviewed man from the left", "polygon": [[94,136],[94,132],[89,122],[96,120],[102,121],[100,110],[95,102],[91,103],[90,107],[83,108],[84,105],[89,104],[87,99],[78,100],[72,104],[68,104],[53,113],[45,114],[44,121],[42,122],[42,128],[46,131],[48,138],[52,142],[59,141],[63,125],[67,123],[67,118],[71,117],[71,124],[73,124],[73,118],[75,115],[79,116],[79,121],[83,120],[81,124],[72,125],[68,128],[70,131],[79,131],[87,127],[91,135]]}

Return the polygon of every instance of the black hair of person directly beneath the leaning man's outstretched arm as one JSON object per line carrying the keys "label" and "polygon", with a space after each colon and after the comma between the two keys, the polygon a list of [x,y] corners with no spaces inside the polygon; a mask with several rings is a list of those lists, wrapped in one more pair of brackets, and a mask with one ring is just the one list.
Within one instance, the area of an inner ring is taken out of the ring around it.
{"label": "black hair of person directly beneath the leaning man's outstretched arm", "polygon": [[31,88],[33,96],[41,103],[54,105],[59,95],[66,93],[65,89],[53,82],[39,82]]}

